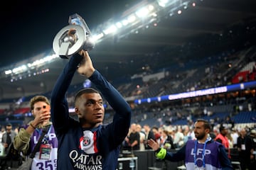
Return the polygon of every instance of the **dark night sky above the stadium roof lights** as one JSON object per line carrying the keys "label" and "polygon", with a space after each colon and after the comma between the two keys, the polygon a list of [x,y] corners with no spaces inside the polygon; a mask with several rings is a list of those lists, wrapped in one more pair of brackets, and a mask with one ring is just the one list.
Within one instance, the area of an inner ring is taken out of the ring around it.
{"label": "dark night sky above the stadium roof lights", "polygon": [[90,28],[118,16],[137,0],[10,0],[1,4],[0,67],[52,48],[54,36],[78,13]]}

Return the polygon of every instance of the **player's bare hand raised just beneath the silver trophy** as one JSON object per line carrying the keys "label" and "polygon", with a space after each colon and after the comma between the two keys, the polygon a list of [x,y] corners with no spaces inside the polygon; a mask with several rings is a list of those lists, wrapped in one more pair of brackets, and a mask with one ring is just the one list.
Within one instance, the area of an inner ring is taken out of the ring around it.
{"label": "player's bare hand raised just beneath the silver trophy", "polygon": [[78,66],[78,73],[88,78],[92,76],[93,72],[95,72],[92,60],[90,59],[88,52],[85,50],[80,50],[79,55],[82,55],[83,59]]}

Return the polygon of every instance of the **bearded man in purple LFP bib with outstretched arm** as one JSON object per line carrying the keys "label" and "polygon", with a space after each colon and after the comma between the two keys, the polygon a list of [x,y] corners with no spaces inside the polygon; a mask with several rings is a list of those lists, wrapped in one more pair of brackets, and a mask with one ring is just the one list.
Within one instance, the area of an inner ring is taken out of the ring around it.
{"label": "bearded man in purple LFP bib with outstretched arm", "polygon": [[148,144],[154,149],[158,159],[171,162],[185,161],[187,170],[233,169],[223,145],[210,137],[210,124],[207,120],[196,120],[194,133],[196,140],[188,140],[176,153],[160,147],[154,140],[149,140]]}

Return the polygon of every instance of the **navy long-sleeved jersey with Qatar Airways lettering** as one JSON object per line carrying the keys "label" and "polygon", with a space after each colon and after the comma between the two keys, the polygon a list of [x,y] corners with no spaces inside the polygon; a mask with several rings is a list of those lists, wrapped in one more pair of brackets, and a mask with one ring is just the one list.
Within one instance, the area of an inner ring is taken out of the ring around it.
{"label": "navy long-sleeved jersey with Qatar Airways lettering", "polygon": [[57,169],[114,170],[119,146],[129,130],[131,108],[119,92],[95,70],[89,79],[114,109],[112,123],[85,129],[77,120],[70,118],[65,93],[81,60],[80,55],[70,57],[56,81],[51,98],[51,115],[58,137]]}

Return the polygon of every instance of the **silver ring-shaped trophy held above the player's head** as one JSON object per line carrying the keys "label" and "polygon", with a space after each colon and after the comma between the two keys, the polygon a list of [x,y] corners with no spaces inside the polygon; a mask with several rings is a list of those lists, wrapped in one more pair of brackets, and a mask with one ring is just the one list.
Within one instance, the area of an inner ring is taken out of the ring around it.
{"label": "silver ring-shaped trophy held above the player's head", "polygon": [[80,50],[92,50],[95,46],[90,29],[78,13],[69,16],[68,23],[69,26],[62,28],[53,40],[53,51],[65,59]]}

